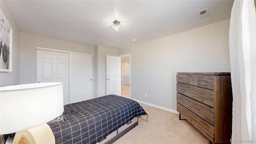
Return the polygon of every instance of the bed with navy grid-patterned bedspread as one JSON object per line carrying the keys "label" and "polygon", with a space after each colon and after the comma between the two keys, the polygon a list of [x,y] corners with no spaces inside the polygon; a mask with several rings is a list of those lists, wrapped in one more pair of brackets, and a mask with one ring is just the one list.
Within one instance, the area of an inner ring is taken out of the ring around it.
{"label": "bed with navy grid-patterned bedspread", "polygon": [[112,94],[64,105],[64,121],[49,126],[62,144],[112,143],[142,115],[147,113],[138,102]]}

